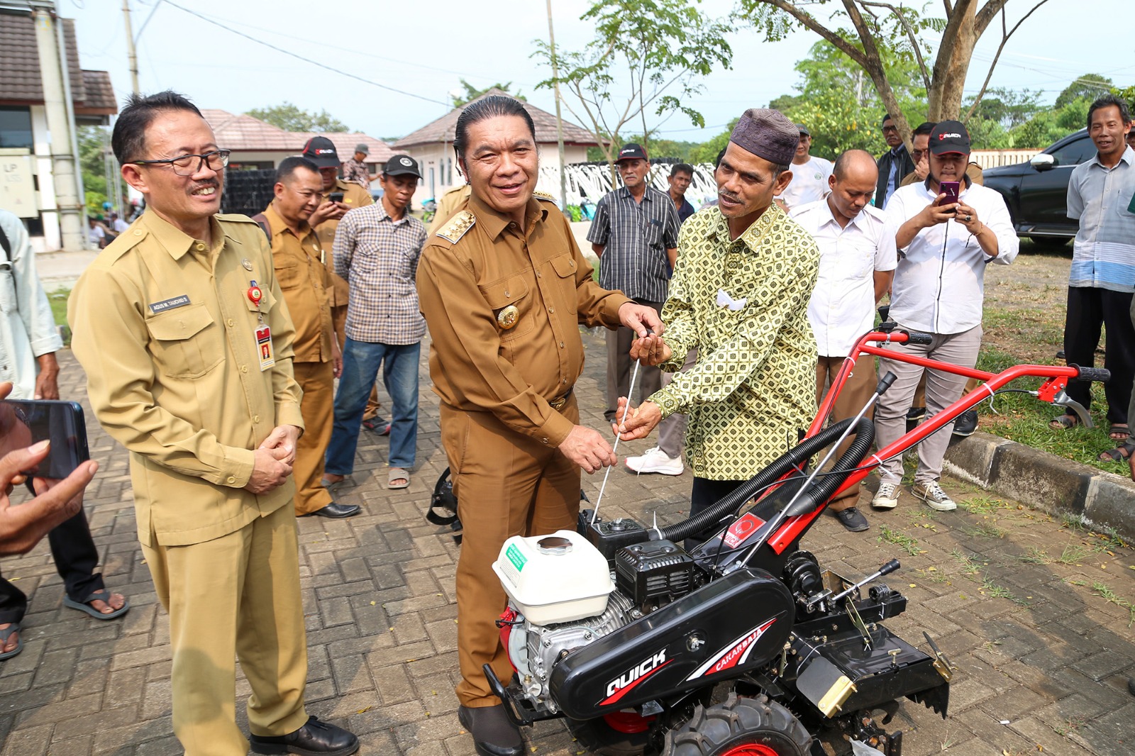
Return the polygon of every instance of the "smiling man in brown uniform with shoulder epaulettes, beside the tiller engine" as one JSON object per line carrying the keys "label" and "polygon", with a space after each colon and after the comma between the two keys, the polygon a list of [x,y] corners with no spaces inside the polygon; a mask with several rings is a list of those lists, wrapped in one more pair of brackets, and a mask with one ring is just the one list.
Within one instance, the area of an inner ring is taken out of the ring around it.
{"label": "smiling man in brown uniform with shoulder epaulettes, beside the tiller engine", "polygon": [[600,288],[568,219],[550,198],[533,198],[536,129],[520,102],[489,96],[466,106],[454,149],[472,196],[427,240],[418,294],[464,526],[459,714],[479,754],[520,756],[520,733],[481,671],[488,663],[501,680],[512,675],[494,624],[506,599],[490,565],[511,536],[574,528],[580,468],[616,461],[605,434],[579,425],[579,325],[645,335],[662,324],[654,310]]}

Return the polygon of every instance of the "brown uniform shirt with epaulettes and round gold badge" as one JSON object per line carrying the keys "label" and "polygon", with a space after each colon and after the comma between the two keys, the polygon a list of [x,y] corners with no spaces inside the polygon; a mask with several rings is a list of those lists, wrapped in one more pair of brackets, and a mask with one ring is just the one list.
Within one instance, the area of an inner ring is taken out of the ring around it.
{"label": "brown uniform shirt with epaulettes and round gold badge", "polygon": [[[619,326],[619,308],[630,300],[595,283],[553,202],[532,199],[527,213],[522,232],[470,198],[466,211],[426,242],[418,296],[442,401],[491,412],[556,447],[572,422],[548,402],[566,395],[583,370],[579,324]],[[501,322],[507,308],[515,308],[511,328]]]}

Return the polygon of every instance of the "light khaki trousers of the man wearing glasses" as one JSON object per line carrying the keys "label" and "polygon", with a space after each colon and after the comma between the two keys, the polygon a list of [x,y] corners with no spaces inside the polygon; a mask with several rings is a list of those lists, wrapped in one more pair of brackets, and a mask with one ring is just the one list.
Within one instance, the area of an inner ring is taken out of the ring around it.
{"label": "light khaki trousers of the man wearing glasses", "polygon": [[174,733],[185,756],[249,753],[236,725],[234,657],[252,687],[252,733],[302,728],[308,647],[292,507],[202,544],[153,543],[142,553],[169,612]]}

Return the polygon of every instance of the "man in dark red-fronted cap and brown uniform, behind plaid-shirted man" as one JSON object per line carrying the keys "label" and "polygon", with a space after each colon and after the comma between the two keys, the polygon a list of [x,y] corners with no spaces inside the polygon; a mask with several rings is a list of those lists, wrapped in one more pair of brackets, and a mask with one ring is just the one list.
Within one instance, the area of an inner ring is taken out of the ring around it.
{"label": "man in dark red-fronted cap and brown uniform, behind plaid-shirted man", "polygon": [[[335,334],[339,342],[339,350],[342,350],[346,345],[348,289],[347,283],[335,274],[335,259],[331,255],[331,250],[335,249],[335,229],[339,227],[339,220],[343,219],[347,210],[375,204],[375,198],[359,184],[338,177],[339,167],[343,163],[339,161],[339,153],[335,151],[335,143],[326,136],[313,136],[308,140],[308,143],[303,145],[302,154],[316,163],[316,167],[319,168],[319,175],[323,179],[322,199],[316,211],[311,213],[311,218],[308,219],[308,224],[316,229],[316,234],[319,236],[323,264],[327,266],[327,270],[331,274],[331,280],[335,282],[330,302],[331,320],[335,322]],[[343,199],[333,202],[331,194],[336,193],[342,194]],[[378,417],[378,389],[372,388],[370,400],[367,402],[367,410],[362,415],[364,423],[375,421]],[[386,423],[381,420],[370,425],[376,426],[379,431],[386,428]],[[385,436],[387,432],[389,431],[381,432],[381,435]]]}

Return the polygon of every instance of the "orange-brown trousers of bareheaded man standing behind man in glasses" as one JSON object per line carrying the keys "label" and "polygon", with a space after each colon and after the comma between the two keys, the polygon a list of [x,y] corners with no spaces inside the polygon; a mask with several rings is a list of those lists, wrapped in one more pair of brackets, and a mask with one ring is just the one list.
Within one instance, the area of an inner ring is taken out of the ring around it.
{"label": "orange-brown trousers of bareheaded man standing behind man in glasses", "polygon": [[295,515],[303,516],[331,503],[323,487],[323,455],[331,440],[331,417],[335,412],[335,366],[328,362],[293,362],[295,383],[303,389],[300,414],[303,435],[295,447]]}

